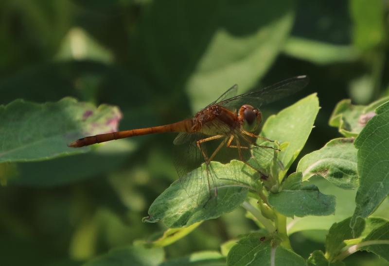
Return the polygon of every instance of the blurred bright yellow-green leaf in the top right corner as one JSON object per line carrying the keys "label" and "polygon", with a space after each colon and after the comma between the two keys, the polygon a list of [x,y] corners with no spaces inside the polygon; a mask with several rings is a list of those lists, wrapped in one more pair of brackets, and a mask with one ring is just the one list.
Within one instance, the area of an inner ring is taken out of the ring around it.
{"label": "blurred bright yellow-green leaf in the top right corner", "polygon": [[354,20],[354,44],[367,50],[385,39],[385,6],[381,0],[351,0],[350,14]]}

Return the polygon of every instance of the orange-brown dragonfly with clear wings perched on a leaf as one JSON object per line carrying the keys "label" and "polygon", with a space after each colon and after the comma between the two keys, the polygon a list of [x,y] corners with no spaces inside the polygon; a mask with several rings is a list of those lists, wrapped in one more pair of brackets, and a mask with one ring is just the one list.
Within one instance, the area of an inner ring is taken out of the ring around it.
{"label": "orange-brown dragonfly with clear wings perched on a leaf", "polygon": [[[178,176],[180,179],[195,178],[197,173],[194,169],[202,163],[209,166],[222,149],[235,150],[232,158],[243,162],[247,161],[247,156],[244,154],[247,154],[251,148],[274,150],[271,146],[259,145],[256,142],[257,139],[273,141],[259,135],[262,122],[262,112],[259,107],[300,91],[308,82],[309,78],[301,75],[241,95],[237,95],[238,86],[235,84],[192,118],[162,126],[87,136],[71,142],[68,146],[79,148],[139,135],[176,132],[179,134],[173,143],[180,146],[186,144],[188,147],[181,149],[184,152],[178,153],[179,159],[176,162]],[[219,140],[219,144],[212,152],[207,152],[205,144],[215,140]],[[188,175],[190,172],[192,174]],[[210,194],[214,191],[213,194],[217,196],[217,188],[212,186],[209,177],[207,185]]]}

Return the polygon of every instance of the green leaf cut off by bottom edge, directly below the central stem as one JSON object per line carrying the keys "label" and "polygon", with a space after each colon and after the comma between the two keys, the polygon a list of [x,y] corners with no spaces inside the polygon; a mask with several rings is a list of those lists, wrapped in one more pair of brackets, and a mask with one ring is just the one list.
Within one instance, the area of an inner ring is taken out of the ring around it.
{"label": "green leaf cut off by bottom edge, directly below the central stem", "polygon": [[271,238],[263,233],[251,233],[233,246],[227,257],[228,266],[301,266],[305,261],[291,250],[281,246],[272,248]]}

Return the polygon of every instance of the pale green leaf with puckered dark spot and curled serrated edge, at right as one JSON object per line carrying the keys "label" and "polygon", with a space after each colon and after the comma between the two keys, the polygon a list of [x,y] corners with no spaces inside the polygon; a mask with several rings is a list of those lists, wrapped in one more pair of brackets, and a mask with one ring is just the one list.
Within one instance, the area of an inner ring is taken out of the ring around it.
{"label": "pale green leaf with puckered dark spot and curled serrated edge, at right", "polygon": [[356,154],[354,138],[336,138],[302,157],[297,171],[302,172],[303,181],[318,175],[341,188],[354,189],[358,186]]}

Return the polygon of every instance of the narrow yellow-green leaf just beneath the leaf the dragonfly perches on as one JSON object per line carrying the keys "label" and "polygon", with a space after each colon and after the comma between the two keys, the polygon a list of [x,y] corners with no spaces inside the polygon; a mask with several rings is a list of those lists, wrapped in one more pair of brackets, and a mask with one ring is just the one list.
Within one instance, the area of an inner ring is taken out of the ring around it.
{"label": "narrow yellow-green leaf just beneath the leaf the dragonfly perches on", "polygon": [[145,245],[147,247],[165,247],[168,246],[177,240],[181,239],[182,237],[185,237],[188,233],[191,233],[193,230],[195,230],[201,222],[194,223],[188,227],[182,227],[182,228],[169,228],[165,232],[163,232],[163,235],[159,237],[158,239],[152,241],[152,242],[146,242]]}

